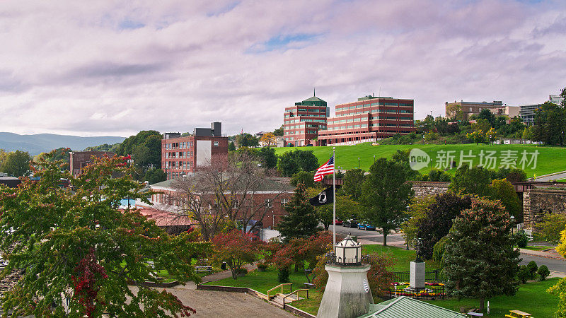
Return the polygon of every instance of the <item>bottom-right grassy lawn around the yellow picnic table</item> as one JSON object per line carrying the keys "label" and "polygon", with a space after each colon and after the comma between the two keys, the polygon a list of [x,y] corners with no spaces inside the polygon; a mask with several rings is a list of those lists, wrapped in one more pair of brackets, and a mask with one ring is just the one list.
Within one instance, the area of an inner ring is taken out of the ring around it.
{"label": "bottom-right grassy lawn around the yellow picnic table", "polygon": [[[492,298],[490,299],[490,314],[484,317],[504,317],[505,314],[509,314],[509,310],[529,312],[533,317],[553,317],[554,312],[558,309],[558,297],[546,293],[546,290],[557,282],[558,278],[550,278],[547,281],[527,283],[520,285],[519,291],[514,296]],[[461,307],[468,310],[480,305],[479,300],[473,299],[427,300],[427,302],[456,312],[459,312]],[[487,300],[485,306],[487,308]]]}

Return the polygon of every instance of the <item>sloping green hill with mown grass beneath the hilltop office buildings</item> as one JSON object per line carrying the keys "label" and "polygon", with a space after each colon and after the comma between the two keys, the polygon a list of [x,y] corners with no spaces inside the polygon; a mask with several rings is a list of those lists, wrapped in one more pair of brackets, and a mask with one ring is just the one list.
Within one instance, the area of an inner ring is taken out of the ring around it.
{"label": "sloping green hill with mown grass beneath the hilltop office buildings", "polygon": [[[342,169],[348,170],[359,166],[364,170],[369,170],[369,166],[374,163],[375,158],[391,158],[391,155],[397,150],[410,150],[412,148],[419,148],[427,153],[432,160],[432,165],[441,167],[448,167],[449,161],[456,162],[456,167],[460,163],[461,155],[466,160],[466,155],[471,151],[473,155],[473,165],[480,163],[480,154],[483,151],[483,157],[487,158],[490,153],[495,151],[491,157],[495,158],[495,169],[504,163],[502,159],[507,157],[509,163],[514,163],[516,167],[523,168],[529,177],[547,175],[553,172],[560,172],[566,170],[566,148],[550,148],[532,145],[475,145],[475,144],[458,144],[458,145],[379,145],[372,146],[371,143],[360,143],[355,146],[337,146],[336,147],[336,165]],[[290,147],[290,148],[275,148],[277,155],[286,151],[294,149],[301,149],[313,151],[318,158],[318,163],[322,165],[328,160],[332,147]],[[524,151],[525,156],[523,155]],[[538,151],[536,155],[536,166],[534,161],[531,161],[533,153]],[[449,153],[450,152],[450,153]],[[446,157],[454,156],[451,160],[446,160]],[[525,157],[525,158],[523,158]],[[442,160],[444,158],[444,160]],[[521,162],[521,160],[526,161]],[[444,164],[440,164],[442,162]],[[485,162],[485,161],[484,161]],[[420,170],[421,173],[427,173],[431,169],[431,165]],[[454,172],[454,169],[449,170]]]}

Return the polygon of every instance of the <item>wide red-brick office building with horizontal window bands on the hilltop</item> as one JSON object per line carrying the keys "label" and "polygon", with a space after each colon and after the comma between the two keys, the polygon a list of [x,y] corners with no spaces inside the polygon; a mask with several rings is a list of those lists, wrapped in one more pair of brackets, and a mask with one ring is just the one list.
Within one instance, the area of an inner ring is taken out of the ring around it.
{"label": "wide red-brick office building with horizontal window bands on the hilltop", "polygon": [[414,100],[365,96],[336,105],[336,116],[318,131],[317,146],[376,141],[415,131]]}

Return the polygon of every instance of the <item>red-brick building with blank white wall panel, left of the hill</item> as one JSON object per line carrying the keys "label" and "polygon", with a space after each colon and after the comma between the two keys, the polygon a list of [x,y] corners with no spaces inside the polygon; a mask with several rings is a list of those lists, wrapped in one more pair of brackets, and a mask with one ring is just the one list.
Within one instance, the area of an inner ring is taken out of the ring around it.
{"label": "red-brick building with blank white wall panel, left of the hill", "polygon": [[188,175],[199,167],[222,165],[228,160],[228,137],[222,136],[220,122],[210,128],[195,128],[189,136],[180,133],[163,134],[161,169],[167,179]]}

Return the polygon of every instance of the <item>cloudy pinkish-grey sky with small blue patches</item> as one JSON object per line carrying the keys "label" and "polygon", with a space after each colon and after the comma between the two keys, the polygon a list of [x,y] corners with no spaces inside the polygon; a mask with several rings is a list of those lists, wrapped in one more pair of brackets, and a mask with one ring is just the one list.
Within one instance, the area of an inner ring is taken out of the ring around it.
{"label": "cloudy pinkish-grey sky with small blue patches", "polygon": [[0,131],[273,130],[313,95],[543,102],[566,86],[566,1],[0,3]]}

